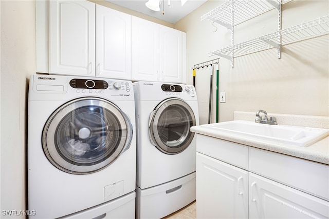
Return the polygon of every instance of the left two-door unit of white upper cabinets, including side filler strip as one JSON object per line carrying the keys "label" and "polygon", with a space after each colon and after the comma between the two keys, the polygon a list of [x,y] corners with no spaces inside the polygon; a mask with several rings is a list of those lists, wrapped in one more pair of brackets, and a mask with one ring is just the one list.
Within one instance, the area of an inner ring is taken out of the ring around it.
{"label": "left two-door unit of white upper cabinets, including side filler strip", "polygon": [[36,1],[36,44],[37,72],[131,78],[129,14],[88,1]]}

